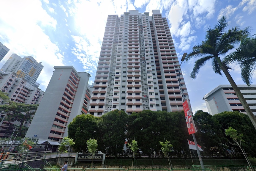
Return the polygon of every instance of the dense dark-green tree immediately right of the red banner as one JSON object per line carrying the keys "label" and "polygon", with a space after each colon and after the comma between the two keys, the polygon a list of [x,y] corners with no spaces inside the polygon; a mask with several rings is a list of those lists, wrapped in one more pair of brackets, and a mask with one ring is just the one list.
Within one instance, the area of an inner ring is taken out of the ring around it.
{"label": "dense dark-green tree immediately right of the red banner", "polygon": [[221,129],[219,121],[208,112],[196,111],[193,116],[197,128],[196,138],[198,144],[204,147],[203,153],[210,155],[226,155],[225,143],[227,139]]}

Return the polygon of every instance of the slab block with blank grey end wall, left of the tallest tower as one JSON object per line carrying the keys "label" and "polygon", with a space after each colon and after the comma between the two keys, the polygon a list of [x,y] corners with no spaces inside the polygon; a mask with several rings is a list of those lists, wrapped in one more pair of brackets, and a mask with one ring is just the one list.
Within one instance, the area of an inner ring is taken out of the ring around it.
{"label": "slab block with blank grey end wall, left of the tallest tower", "polygon": [[88,112],[90,74],[72,66],[55,66],[26,137],[59,141],[67,137],[67,125],[79,114]]}

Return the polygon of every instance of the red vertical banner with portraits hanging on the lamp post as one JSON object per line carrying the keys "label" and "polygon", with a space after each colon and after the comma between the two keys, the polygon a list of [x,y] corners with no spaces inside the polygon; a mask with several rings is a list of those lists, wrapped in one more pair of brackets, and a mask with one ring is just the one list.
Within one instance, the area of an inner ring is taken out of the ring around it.
{"label": "red vertical banner with portraits hanging on the lamp post", "polygon": [[186,101],[184,101],[182,106],[183,106],[184,113],[185,113],[185,119],[186,119],[189,135],[195,134],[197,132],[197,130],[195,128],[195,123],[194,123],[194,120],[192,117],[192,110],[189,105],[189,100],[187,99]]}

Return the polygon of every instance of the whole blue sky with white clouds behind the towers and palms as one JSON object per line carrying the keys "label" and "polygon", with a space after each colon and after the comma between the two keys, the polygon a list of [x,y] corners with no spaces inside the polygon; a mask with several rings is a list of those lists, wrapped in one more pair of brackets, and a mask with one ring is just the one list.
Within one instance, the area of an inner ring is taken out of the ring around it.
{"label": "whole blue sky with white clouds behind the towers and palms", "polygon": [[[0,42],[10,49],[0,67],[16,53],[42,62],[44,69],[38,78],[42,90],[46,89],[55,65],[73,65],[77,71],[89,72],[91,83],[108,15],[121,15],[128,10],[152,13],[156,9],[167,17],[179,59],[204,39],[205,30],[222,15],[226,15],[230,27],[251,26],[252,34],[256,33],[256,0],[0,1]],[[203,96],[228,81],[212,71],[211,63],[200,70],[197,79],[190,79],[193,62],[181,65],[192,109],[207,111]],[[244,84],[238,66],[234,65],[230,73],[237,84]],[[255,80],[256,75],[254,83]]]}

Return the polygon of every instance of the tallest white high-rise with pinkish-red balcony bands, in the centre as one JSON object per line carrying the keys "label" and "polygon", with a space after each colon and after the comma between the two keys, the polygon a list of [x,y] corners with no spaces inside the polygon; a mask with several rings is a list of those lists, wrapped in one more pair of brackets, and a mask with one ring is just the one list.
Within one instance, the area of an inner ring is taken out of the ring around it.
{"label": "tallest white high-rise with pinkish-red balcony bands, in the centre", "polygon": [[108,15],[89,113],[182,111],[187,88],[167,19],[159,10]]}

